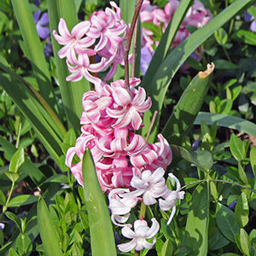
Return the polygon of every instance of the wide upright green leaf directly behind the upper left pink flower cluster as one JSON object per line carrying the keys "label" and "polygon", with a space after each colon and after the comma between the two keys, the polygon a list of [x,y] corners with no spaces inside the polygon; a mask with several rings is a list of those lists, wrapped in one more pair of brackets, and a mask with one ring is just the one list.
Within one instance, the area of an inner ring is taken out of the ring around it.
{"label": "wide upright green leaf directly behind the upper left pink flower cluster", "polygon": [[67,70],[65,60],[61,60],[58,51],[61,49],[55,38],[52,36],[53,30],[58,30],[60,18],[67,22],[67,27],[71,31],[73,26],[78,23],[78,16],[73,0],[49,0],[48,1],[49,28],[51,32],[51,42],[54,49],[55,65],[60,84],[61,97],[64,104],[65,113],[69,127],[72,127],[77,134],[80,131],[79,119],[82,108],[82,96],[85,91],[90,90],[90,83],[82,79],[79,82],[67,82],[66,78],[70,74]]}

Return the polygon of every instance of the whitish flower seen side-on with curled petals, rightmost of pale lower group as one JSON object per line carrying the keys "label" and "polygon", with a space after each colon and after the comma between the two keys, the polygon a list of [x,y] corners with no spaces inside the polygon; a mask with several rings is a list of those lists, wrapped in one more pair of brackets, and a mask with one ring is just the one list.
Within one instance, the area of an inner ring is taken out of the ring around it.
{"label": "whitish flower seen side-on with curled petals, rightmost of pale lower group", "polygon": [[167,189],[166,190],[166,194],[162,195],[163,199],[159,199],[159,206],[160,209],[162,211],[169,211],[172,208],[172,213],[170,218],[167,221],[167,224],[170,224],[172,221],[172,218],[176,212],[176,203],[178,199],[183,199],[184,198],[184,191],[180,191],[180,183],[179,180],[177,179],[177,177],[175,177],[172,173],[168,174],[169,177],[171,177],[172,179],[174,179],[175,183],[176,183],[176,190],[170,190]]}

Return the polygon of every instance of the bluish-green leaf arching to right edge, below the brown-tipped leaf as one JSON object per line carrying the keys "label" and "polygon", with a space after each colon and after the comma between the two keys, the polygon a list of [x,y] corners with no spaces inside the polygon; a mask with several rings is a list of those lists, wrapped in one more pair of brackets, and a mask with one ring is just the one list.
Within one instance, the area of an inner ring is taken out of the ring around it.
{"label": "bluish-green leaf arching to right edge, below the brown-tipped leaf", "polygon": [[204,120],[207,125],[212,125],[216,122],[218,126],[243,131],[256,137],[256,125],[246,119],[230,116],[228,114],[200,112],[195,119],[194,125],[200,125],[202,120]]}

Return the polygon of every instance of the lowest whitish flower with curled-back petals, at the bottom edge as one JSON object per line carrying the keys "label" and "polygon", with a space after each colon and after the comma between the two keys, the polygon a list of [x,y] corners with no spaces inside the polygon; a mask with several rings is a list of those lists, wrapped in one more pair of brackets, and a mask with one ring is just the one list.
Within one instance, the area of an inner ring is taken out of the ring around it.
{"label": "lowest whitish flower with curled-back petals, at the bottom edge", "polygon": [[[119,244],[119,250],[121,252],[128,253],[132,249],[135,249],[136,251],[142,251],[143,248],[151,249],[156,242],[156,238],[154,236],[158,233],[160,229],[160,224],[155,218],[152,218],[151,221],[152,226],[150,229],[148,228],[147,221],[143,219],[137,219],[134,222],[134,231],[132,231],[131,228],[128,226],[122,228],[123,236],[132,240],[123,244]],[[147,239],[150,239],[152,237],[153,242],[148,242]]]}

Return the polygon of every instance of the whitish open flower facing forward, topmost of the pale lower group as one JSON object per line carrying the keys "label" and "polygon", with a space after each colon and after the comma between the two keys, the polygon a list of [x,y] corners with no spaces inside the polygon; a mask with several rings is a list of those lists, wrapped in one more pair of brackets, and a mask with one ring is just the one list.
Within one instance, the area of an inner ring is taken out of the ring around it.
{"label": "whitish open flower facing forward, topmost of the pale lower group", "polygon": [[166,194],[166,179],[163,177],[165,170],[158,168],[154,172],[149,170],[143,171],[142,177],[133,176],[131,179],[131,187],[136,190],[122,195],[125,198],[142,195],[143,203],[147,206],[156,203],[155,198],[159,198]]}

